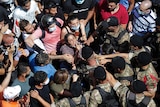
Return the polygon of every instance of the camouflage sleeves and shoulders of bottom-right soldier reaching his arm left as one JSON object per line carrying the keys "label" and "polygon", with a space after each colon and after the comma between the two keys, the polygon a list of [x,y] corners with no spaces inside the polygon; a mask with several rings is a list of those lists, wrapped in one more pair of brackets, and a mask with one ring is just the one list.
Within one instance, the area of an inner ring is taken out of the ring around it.
{"label": "camouflage sleeves and shoulders of bottom-right soldier reaching his arm left", "polygon": [[[127,99],[128,96],[129,96],[129,89],[128,87],[122,85],[120,82],[117,82],[113,89],[116,91],[118,97],[119,97],[119,102],[121,103],[122,107],[127,107],[126,104],[127,104]],[[128,94],[127,94],[128,93]],[[140,103],[143,98],[144,98],[144,94],[136,94],[136,103]],[[149,104],[147,105],[147,107],[156,107],[156,104],[154,102],[154,100],[151,98]]]}

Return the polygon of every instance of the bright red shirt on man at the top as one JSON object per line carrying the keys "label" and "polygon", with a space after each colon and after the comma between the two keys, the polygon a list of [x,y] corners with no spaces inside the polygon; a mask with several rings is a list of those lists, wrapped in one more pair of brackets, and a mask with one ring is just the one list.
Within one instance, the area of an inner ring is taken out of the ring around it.
{"label": "bright red shirt on man at the top", "polygon": [[120,24],[128,23],[129,15],[123,5],[119,4],[119,10],[114,14],[111,14],[111,12],[109,11],[107,0],[100,0],[98,3],[98,8],[102,20],[108,19],[110,16],[115,16],[118,18]]}

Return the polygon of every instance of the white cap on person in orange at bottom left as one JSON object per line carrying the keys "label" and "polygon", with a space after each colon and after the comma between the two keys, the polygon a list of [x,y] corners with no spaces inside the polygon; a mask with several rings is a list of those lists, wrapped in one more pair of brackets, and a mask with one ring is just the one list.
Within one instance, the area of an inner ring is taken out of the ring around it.
{"label": "white cap on person in orange at bottom left", "polygon": [[21,92],[20,85],[10,86],[4,89],[3,97],[4,99],[8,99],[8,100],[14,99],[19,96],[20,92]]}

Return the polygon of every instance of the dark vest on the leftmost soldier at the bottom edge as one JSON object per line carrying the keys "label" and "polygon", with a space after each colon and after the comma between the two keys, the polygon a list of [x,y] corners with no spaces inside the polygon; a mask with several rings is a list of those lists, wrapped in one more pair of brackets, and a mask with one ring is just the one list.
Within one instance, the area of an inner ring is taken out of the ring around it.
{"label": "dark vest on the leftmost soldier at the bottom edge", "polygon": [[81,101],[79,104],[76,104],[71,98],[68,98],[68,101],[69,101],[70,107],[87,107],[86,98],[84,97],[84,95],[82,95]]}

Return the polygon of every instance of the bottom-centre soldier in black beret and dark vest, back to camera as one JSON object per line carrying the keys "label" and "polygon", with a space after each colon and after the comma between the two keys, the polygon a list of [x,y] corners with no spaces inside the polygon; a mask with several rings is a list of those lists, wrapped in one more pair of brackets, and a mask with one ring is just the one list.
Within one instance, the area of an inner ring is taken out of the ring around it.
{"label": "bottom-centre soldier in black beret and dark vest, back to camera", "polygon": [[98,66],[94,70],[94,77],[96,79],[96,88],[92,90],[90,96],[89,107],[118,107],[118,102],[115,99],[111,85],[106,78],[106,71],[102,66]]}

